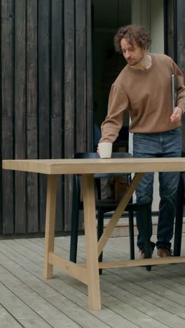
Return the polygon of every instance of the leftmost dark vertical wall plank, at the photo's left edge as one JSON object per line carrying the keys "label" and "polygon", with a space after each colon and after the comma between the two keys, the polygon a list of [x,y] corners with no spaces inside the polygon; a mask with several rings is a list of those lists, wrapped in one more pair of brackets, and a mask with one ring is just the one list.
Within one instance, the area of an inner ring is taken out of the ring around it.
{"label": "leftmost dark vertical wall plank, at the photo's left edge", "polygon": [[[2,159],[13,158],[13,34],[12,0],[1,1],[1,151]],[[2,172],[3,233],[14,232],[13,172]]]}

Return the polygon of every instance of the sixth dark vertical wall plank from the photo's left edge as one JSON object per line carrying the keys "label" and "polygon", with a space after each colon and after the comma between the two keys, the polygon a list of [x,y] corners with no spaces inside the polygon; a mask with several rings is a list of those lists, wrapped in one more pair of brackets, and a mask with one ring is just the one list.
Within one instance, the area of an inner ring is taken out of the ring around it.
{"label": "sixth dark vertical wall plank from the photo's left edge", "polygon": [[[64,157],[74,154],[75,134],[75,26],[74,0],[64,0]],[[64,179],[64,227],[69,230],[72,203],[72,177]],[[68,219],[67,219],[68,218]]]}

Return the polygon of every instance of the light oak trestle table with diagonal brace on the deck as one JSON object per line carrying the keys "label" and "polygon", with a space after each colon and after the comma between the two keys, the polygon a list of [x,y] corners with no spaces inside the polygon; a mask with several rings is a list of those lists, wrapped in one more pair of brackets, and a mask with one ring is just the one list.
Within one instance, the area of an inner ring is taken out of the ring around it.
{"label": "light oak trestle table with diagonal brace on the deck", "polygon": [[[99,268],[185,262],[185,257],[167,257],[98,263],[98,257],[104,245],[106,245],[107,240],[111,236],[118,219],[121,217],[144,172],[185,171],[185,158],[4,160],[3,168],[48,175],[44,278],[53,278],[53,266],[55,266],[85,283],[88,286],[90,309],[101,309]],[[102,237],[97,242],[93,174],[120,172],[135,172],[135,177],[132,179],[128,191],[121,199]],[[85,264],[75,264],[59,257],[54,252],[57,176],[75,173],[82,175],[83,184],[85,247],[87,254]]]}

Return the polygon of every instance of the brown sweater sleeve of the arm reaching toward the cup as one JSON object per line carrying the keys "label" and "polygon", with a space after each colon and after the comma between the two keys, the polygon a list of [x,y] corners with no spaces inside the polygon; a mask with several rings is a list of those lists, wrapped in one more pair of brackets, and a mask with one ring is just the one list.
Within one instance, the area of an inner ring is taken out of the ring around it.
{"label": "brown sweater sleeve of the arm reaching toward the cup", "polygon": [[123,125],[123,111],[128,108],[128,98],[116,84],[111,87],[109,94],[108,113],[102,123],[102,138],[100,142],[114,142]]}

